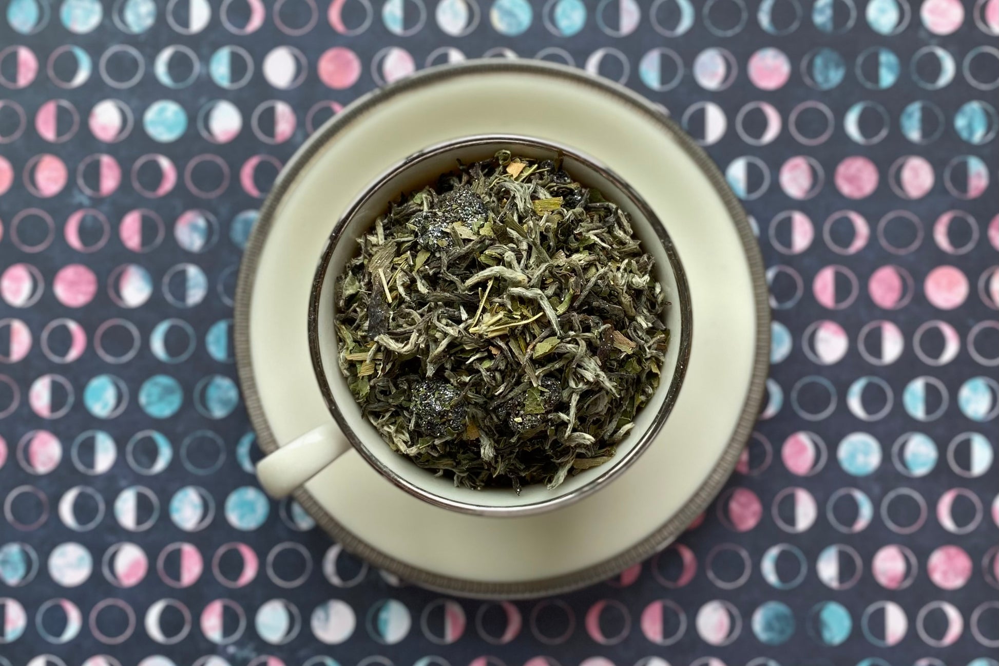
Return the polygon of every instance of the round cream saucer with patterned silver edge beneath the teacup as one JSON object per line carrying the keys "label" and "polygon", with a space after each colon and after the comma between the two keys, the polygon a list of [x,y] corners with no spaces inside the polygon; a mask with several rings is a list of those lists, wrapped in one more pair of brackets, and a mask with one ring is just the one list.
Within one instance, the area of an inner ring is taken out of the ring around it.
{"label": "round cream saucer with patterned silver edge beneath the teacup", "polygon": [[236,351],[265,451],[332,420],[306,339],[330,231],[402,158],[495,133],[592,156],[644,197],[672,237],[690,283],[693,343],[662,432],[606,488],[535,516],[436,508],[357,452],[296,499],[346,549],[405,580],[456,595],[527,597],[608,578],[674,539],[730,474],[762,403],[769,308],[759,250],[717,168],[672,121],[615,84],[526,61],[432,68],[358,100],[296,153],[261,210],[240,273]]}

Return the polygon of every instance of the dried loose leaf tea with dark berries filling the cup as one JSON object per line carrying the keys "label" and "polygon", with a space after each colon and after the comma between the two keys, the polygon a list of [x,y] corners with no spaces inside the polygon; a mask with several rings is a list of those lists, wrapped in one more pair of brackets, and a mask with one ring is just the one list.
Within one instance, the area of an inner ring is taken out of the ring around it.
{"label": "dried loose leaf tea with dark berries filling the cup", "polygon": [[659,384],[666,293],[627,215],[559,161],[461,165],[337,279],[340,368],[397,452],[470,488],[601,465]]}

